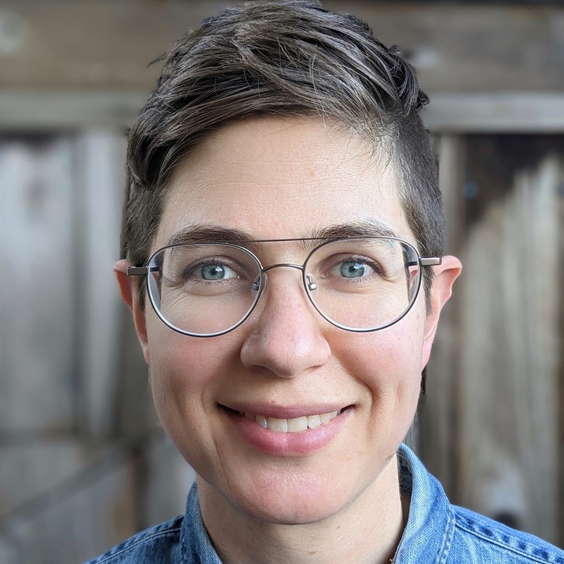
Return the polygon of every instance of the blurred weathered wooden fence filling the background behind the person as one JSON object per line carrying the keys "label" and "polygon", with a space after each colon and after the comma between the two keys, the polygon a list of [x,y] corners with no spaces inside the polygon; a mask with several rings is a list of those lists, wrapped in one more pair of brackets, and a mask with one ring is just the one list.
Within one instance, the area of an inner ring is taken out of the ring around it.
{"label": "blurred weathered wooden fence filling the background behind the person", "polygon": [[[0,4],[0,562],[77,563],[183,513],[118,299],[125,133],[173,39],[235,1]],[[564,9],[329,1],[431,97],[465,270],[411,443],[453,503],[564,544]]]}

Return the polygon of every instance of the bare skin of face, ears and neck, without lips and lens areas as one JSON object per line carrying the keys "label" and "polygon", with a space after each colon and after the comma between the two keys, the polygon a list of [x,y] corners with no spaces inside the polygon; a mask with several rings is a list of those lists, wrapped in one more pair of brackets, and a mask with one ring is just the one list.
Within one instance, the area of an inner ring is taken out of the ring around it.
{"label": "bare skin of face, ears and neck, without lips and lens areas", "polygon": [[[415,243],[386,160],[374,158],[355,135],[316,119],[228,125],[177,166],[152,251],[191,224],[279,239],[377,220]],[[259,258],[264,265],[301,264],[305,255],[299,243],[271,243]],[[429,316],[421,291],[405,318],[372,333],[332,326],[307,299],[298,271],[276,269],[250,318],[214,338],[180,335],[151,307],[143,311],[127,266],[118,262],[116,275],[151,368],[154,402],[197,472],[202,515],[222,560],[388,562],[408,510],[396,451],[415,414],[458,259],[444,257],[433,267]],[[230,402],[305,412],[320,402],[349,407],[329,444],[283,456],[242,438],[219,407]]]}

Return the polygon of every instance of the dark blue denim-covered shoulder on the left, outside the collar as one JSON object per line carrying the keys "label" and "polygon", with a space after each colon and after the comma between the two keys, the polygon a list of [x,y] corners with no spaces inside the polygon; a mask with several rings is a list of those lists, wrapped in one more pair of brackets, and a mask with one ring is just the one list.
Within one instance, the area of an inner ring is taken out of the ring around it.
{"label": "dark blue denim-covered shoulder on the left, outside the collar", "polygon": [[[180,559],[183,517],[151,527],[87,564],[172,564]],[[178,554],[177,554],[178,553]]]}

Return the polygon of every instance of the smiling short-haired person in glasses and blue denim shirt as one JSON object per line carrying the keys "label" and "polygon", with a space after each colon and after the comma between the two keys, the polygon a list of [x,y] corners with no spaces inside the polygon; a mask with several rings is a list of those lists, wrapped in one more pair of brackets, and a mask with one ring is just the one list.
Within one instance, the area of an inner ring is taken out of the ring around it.
{"label": "smiling short-haired person in glasses and blue denim shirt", "polygon": [[441,307],[412,68],[309,2],[209,18],[130,134],[123,299],[185,515],[96,563],[563,562],[448,503],[402,446]]}

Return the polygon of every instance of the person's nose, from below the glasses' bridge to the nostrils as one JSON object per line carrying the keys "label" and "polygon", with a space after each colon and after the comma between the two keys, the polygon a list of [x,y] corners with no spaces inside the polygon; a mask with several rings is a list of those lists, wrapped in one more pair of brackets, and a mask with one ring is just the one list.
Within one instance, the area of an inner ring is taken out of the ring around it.
{"label": "person's nose, from below the glasses' bridge to the nostrils", "polygon": [[324,321],[296,274],[294,268],[269,273],[257,310],[246,322],[249,332],[240,353],[245,367],[289,378],[329,362],[331,348],[320,329]]}

